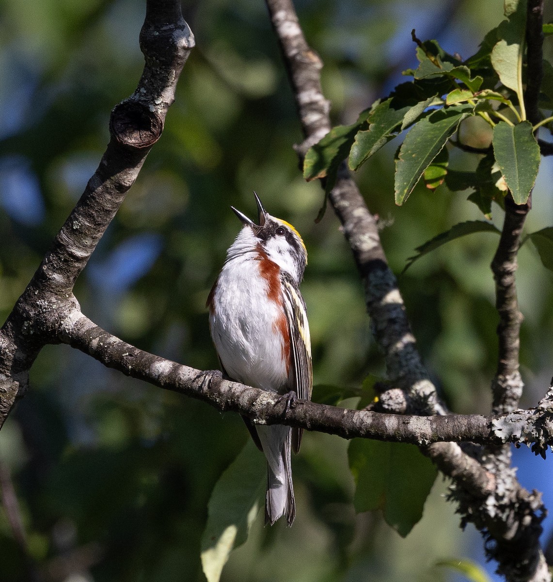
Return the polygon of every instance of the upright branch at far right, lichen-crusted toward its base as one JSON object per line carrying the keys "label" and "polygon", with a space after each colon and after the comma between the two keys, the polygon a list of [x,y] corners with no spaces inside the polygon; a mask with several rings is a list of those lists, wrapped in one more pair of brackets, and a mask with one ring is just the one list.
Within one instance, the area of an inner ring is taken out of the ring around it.
{"label": "upright branch at far right, lichen-crusted toward its base", "polygon": [[[527,3],[526,45],[527,85],[524,95],[528,119],[536,124],[540,119],[538,97],[540,94],[543,44],[543,1]],[[493,413],[509,413],[516,409],[523,390],[519,372],[520,313],[516,291],[516,255],[520,237],[531,208],[531,194],[526,204],[517,205],[509,193],[505,199],[505,218],[500,242],[491,262],[495,281],[495,306],[500,316],[497,328],[499,339],[497,372],[492,381]],[[487,540],[488,556],[498,562],[498,572],[507,580],[551,580],[547,563],[540,547],[541,521],[545,509],[541,496],[520,487],[516,470],[511,467],[509,446],[484,446],[480,463],[497,482],[493,500],[495,518],[481,519],[474,503],[467,500],[473,509],[476,526]],[[461,499],[460,507],[463,507]],[[476,509],[476,511],[475,511]]]}

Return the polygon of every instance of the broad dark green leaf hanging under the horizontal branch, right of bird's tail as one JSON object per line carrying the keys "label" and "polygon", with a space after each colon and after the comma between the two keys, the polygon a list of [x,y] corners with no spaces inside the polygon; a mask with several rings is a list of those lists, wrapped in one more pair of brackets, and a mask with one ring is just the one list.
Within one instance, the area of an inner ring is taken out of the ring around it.
{"label": "broad dark green leaf hanging under the horizontal branch, right of bird's tail", "polygon": [[351,441],[348,459],[355,511],[382,510],[386,523],[405,537],[422,517],[436,467],[415,445],[369,439]]}

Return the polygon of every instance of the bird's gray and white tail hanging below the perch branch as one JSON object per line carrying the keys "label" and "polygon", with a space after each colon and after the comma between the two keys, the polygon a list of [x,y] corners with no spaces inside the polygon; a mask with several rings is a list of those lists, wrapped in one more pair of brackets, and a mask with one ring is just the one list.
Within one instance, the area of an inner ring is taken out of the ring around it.
{"label": "bird's gray and white tail hanging below the perch branch", "polygon": [[290,459],[292,430],[281,425],[257,425],[256,429],[267,457],[265,523],[273,525],[279,517],[286,516],[291,526],[296,514]]}

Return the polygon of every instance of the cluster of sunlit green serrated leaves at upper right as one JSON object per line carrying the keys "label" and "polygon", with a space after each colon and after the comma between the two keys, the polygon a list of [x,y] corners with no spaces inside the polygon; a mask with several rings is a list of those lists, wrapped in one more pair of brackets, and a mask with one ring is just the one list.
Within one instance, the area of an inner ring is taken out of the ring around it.
{"label": "cluster of sunlit green serrated leaves at upper right", "polygon": [[[404,204],[421,179],[430,190],[444,182],[450,190],[472,190],[469,200],[487,218],[492,201],[501,205],[508,192],[516,204],[526,203],[540,165],[537,126],[527,121],[523,101],[526,3],[508,3],[505,15],[464,61],[436,40],[421,42],[413,30],[419,66],[404,71],[412,80],[376,101],[354,124],[334,127],[313,145],[304,177],[326,178],[329,191],[344,158],[357,171],[407,130],[395,155],[396,204]],[[551,96],[543,95],[541,105],[551,110]],[[493,129],[489,147],[476,151],[459,139],[459,127],[475,116]],[[455,147],[480,155],[475,172],[449,168],[449,150]]]}

